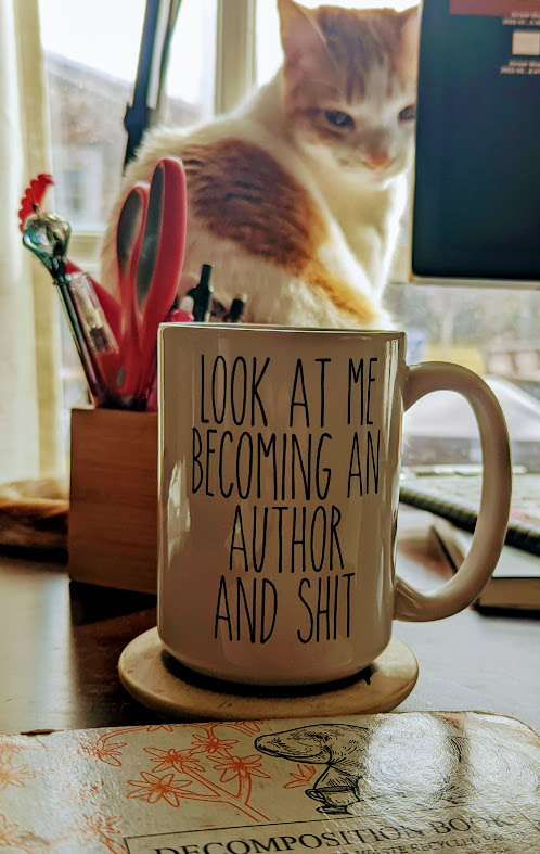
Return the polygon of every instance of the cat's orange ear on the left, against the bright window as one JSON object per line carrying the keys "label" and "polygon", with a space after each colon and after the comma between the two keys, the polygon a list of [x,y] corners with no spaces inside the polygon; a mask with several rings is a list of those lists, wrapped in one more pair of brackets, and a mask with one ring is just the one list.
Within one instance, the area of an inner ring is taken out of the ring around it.
{"label": "cat's orange ear on the left, against the bright window", "polygon": [[[303,99],[309,88],[335,91],[338,72],[317,17],[294,0],[278,0],[285,54],[286,98]],[[297,104],[301,105],[301,104]]]}

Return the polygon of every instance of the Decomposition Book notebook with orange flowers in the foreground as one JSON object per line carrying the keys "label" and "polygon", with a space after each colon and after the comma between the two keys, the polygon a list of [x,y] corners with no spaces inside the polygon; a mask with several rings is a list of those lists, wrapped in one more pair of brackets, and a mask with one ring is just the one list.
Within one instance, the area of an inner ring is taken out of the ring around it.
{"label": "Decomposition Book notebook with orange flowers in the foreground", "polygon": [[540,739],[473,712],[0,736],[0,849],[540,852]]}

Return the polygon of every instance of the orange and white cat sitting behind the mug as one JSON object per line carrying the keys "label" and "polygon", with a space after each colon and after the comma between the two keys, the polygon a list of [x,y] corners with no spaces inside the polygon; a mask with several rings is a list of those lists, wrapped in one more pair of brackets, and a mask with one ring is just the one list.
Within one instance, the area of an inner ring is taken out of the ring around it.
{"label": "orange and white cat sitting behind the mug", "polygon": [[[217,302],[247,295],[246,322],[385,327],[381,296],[413,151],[417,8],[278,7],[277,76],[229,116],[150,132],[121,196],[159,157],[180,156],[189,200],[180,292],[206,263]],[[102,281],[114,290],[115,278],[111,225]]]}

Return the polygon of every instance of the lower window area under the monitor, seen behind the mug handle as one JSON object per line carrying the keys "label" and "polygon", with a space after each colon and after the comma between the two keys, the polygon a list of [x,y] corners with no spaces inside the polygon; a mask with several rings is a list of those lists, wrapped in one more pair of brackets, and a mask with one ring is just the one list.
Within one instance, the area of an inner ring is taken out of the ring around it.
{"label": "lower window area under the monitor, seen behind the mug handle", "polygon": [[[487,380],[503,409],[514,467],[540,472],[540,294],[501,288],[390,284],[387,306],[408,336],[408,362],[443,360]],[[480,462],[467,404],[438,392],[406,413],[403,466]]]}

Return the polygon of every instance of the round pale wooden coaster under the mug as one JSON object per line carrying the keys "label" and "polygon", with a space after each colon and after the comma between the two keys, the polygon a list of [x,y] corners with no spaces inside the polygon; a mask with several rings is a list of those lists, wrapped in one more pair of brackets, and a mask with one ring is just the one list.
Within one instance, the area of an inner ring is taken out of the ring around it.
{"label": "round pale wooden coaster under the mug", "polygon": [[124,687],[143,705],[176,719],[254,721],[375,714],[395,709],[414,688],[419,665],[393,638],[364,671],[317,687],[261,688],[209,679],[183,667],[163,647],[157,628],[134,638],[120,655]]}

